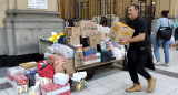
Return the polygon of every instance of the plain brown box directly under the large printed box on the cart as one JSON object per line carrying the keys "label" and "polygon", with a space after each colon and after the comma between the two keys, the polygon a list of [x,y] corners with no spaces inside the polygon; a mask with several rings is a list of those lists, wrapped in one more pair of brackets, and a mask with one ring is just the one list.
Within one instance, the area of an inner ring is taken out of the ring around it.
{"label": "plain brown box directly under the large printed box on the cart", "polygon": [[97,46],[97,44],[100,43],[99,34],[89,36],[89,45],[90,46]]}

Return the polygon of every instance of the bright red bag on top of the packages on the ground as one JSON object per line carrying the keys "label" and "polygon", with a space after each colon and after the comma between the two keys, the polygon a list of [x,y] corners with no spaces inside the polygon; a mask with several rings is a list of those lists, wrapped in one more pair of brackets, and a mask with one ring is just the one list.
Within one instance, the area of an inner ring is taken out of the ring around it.
{"label": "bright red bag on top of the packages on the ground", "polygon": [[43,61],[38,62],[37,72],[40,77],[53,78],[53,66],[44,63]]}

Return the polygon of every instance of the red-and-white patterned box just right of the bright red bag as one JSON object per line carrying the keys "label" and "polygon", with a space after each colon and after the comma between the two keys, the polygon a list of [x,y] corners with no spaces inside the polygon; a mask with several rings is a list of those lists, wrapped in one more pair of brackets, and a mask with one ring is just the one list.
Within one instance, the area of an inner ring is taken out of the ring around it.
{"label": "red-and-white patterned box just right of the bright red bag", "polygon": [[47,57],[47,62],[53,64],[55,73],[65,73],[66,57],[63,55],[51,54]]}

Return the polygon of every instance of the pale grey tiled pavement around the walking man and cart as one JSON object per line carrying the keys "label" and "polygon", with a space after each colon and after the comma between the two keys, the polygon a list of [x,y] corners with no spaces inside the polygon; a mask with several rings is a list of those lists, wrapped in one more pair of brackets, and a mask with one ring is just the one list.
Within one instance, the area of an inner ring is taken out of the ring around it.
{"label": "pale grey tiled pavement around the walking man and cart", "polygon": [[[178,73],[178,51],[170,49],[170,66],[157,66],[159,70]],[[161,57],[162,57],[161,50]],[[129,73],[112,66],[103,66],[96,70],[93,78],[87,82],[87,88],[80,92],[72,92],[71,95],[178,95],[178,77],[159,74],[149,71],[157,78],[156,88],[152,93],[147,93],[147,81],[139,75],[141,92],[126,93],[125,89],[132,85]],[[6,77],[0,78],[0,84],[6,82]],[[1,95],[17,95],[12,87],[0,91]],[[22,94],[28,95],[28,93]]]}

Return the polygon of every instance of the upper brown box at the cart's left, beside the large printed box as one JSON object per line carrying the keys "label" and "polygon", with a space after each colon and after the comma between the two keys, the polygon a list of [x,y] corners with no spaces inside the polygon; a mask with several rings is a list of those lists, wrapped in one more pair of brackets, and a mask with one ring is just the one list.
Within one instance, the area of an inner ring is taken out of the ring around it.
{"label": "upper brown box at the cart's left, beside the large printed box", "polygon": [[67,36],[80,36],[81,35],[80,27],[66,27],[65,31],[66,31]]}

